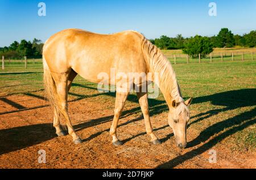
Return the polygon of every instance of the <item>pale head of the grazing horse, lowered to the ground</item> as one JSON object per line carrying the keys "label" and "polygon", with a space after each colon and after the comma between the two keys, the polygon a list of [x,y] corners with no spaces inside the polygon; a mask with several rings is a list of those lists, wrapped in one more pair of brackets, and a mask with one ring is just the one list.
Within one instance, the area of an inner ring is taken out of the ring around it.
{"label": "pale head of the grazing horse, lowered to the ground", "polygon": [[172,101],[172,106],[168,114],[168,123],[174,131],[177,146],[185,148],[187,145],[187,123],[189,121],[188,106],[191,104],[192,97],[187,101]]}

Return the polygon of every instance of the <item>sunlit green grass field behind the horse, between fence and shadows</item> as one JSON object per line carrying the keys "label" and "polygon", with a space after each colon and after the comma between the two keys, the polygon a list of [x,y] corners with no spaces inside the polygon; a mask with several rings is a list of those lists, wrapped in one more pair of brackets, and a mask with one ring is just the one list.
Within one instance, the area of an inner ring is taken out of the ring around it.
{"label": "sunlit green grass field behind the horse, between fence and shadows", "polygon": [[[183,96],[209,95],[234,89],[255,88],[256,85],[256,61],[180,65],[172,63],[172,66],[181,87],[185,86]],[[2,90],[0,96],[23,93],[28,91],[28,87],[30,87],[30,91],[38,91],[43,88],[41,59],[36,59],[35,63],[28,61],[27,68],[24,68],[24,63],[21,62],[6,62],[5,70],[0,71],[0,87]],[[88,84],[80,76],[75,79],[74,83]],[[89,84],[92,85],[92,83]],[[96,84],[94,86],[97,87]]]}

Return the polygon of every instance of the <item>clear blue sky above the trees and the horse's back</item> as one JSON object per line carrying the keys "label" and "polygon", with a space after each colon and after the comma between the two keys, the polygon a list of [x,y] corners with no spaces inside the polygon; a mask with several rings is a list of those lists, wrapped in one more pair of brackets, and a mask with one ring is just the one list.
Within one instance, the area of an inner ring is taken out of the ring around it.
{"label": "clear blue sky above the trees and the horse's back", "polygon": [[[38,3],[46,3],[46,16],[38,16]],[[209,3],[217,16],[209,16]],[[65,28],[97,33],[134,29],[147,38],[217,35],[222,27],[242,35],[256,29],[255,0],[0,0],[0,46],[13,41],[46,41]]]}

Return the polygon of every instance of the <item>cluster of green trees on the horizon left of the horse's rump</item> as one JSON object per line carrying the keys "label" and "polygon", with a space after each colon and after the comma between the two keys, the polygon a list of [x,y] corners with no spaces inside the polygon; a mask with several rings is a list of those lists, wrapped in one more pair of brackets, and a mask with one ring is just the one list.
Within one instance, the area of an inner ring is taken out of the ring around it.
{"label": "cluster of green trees on the horizon left of the horse's rump", "polygon": [[24,56],[27,58],[42,58],[43,43],[41,40],[34,38],[34,40],[20,42],[14,41],[10,46],[0,47],[0,56],[5,56],[7,59],[21,59]]}

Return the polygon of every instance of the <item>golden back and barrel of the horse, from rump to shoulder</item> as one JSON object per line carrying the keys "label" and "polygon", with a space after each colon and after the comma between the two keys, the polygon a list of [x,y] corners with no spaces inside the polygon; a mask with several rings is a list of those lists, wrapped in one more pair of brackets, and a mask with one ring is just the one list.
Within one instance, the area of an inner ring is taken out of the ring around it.
{"label": "golden back and barrel of the horse, from rump to shoulder", "polygon": [[43,55],[53,71],[73,68],[96,82],[97,74],[110,68],[119,72],[146,71],[141,48],[143,36],[135,31],[101,35],[81,29],[65,29],[50,37]]}

